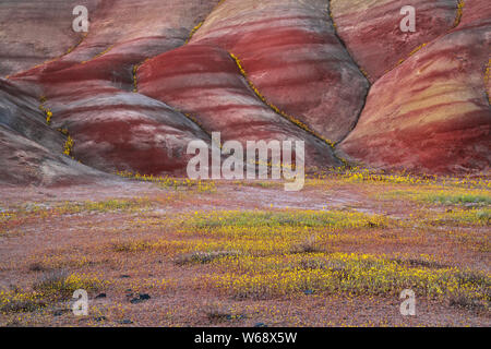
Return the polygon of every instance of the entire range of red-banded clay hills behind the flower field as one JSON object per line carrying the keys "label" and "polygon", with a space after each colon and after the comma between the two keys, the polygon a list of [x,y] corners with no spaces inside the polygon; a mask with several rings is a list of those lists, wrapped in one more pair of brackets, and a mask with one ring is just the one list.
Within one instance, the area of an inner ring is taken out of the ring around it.
{"label": "entire range of red-banded clay hills behind the flower field", "polygon": [[181,176],[214,131],[302,140],[312,168],[489,170],[486,0],[19,0],[0,19],[0,181]]}

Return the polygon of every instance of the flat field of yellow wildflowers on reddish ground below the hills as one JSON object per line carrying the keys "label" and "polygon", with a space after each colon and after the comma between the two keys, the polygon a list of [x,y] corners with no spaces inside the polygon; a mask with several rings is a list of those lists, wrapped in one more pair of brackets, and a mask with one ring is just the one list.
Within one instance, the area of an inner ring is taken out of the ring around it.
{"label": "flat field of yellow wildflowers on reddish ground below the hills", "polygon": [[2,326],[491,325],[486,177],[350,169],[285,192],[118,174],[0,188]]}

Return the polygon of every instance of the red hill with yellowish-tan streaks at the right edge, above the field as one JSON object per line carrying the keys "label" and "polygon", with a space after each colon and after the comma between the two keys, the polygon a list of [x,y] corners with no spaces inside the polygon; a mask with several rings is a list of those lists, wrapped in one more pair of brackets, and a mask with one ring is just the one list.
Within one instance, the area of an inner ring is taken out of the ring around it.
{"label": "red hill with yellowish-tan streaks at the right edge, above the field", "polygon": [[357,128],[340,149],[385,168],[439,173],[489,169],[490,35],[489,2],[466,1],[453,29],[373,84]]}

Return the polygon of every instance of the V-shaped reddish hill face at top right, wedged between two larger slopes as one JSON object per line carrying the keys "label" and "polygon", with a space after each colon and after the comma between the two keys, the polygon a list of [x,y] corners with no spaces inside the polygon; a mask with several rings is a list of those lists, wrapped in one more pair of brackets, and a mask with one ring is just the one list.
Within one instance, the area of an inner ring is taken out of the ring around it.
{"label": "V-shaped reddish hill face at top right, wedged between two larger slopes", "polygon": [[[416,48],[456,25],[458,0],[332,0],[339,37],[371,82],[407,59]],[[403,33],[400,9],[416,10],[416,32]]]}

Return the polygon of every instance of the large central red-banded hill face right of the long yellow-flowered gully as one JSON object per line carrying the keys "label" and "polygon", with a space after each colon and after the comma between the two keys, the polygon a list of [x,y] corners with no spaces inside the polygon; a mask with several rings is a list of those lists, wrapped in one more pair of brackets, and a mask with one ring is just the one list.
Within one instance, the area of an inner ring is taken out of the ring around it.
{"label": "large central red-banded hill face right of the long yellow-flowered gully", "polygon": [[324,0],[228,0],[191,43],[240,58],[273,105],[338,142],[356,124],[369,84],[337,39]]}

